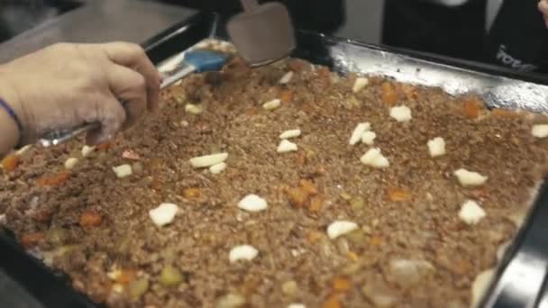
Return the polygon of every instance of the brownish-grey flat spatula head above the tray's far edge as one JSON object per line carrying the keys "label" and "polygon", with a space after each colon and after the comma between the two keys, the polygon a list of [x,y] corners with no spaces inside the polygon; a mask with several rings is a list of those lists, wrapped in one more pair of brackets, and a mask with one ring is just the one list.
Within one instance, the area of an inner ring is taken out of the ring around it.
{"label": "brownish-grey flat spatula head above the tray's far edge", "polygon": [[283,59],[295,50],[288,9],[276,2],[235,15],[227,28],[242,59],[251,67]]}

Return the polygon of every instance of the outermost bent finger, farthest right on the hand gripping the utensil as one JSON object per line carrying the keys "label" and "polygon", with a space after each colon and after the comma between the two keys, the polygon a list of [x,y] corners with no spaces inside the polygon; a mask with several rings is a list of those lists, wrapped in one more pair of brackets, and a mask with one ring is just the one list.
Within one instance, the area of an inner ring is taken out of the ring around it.
{"label": "outermost bent finger, farthest right on the hand gripping the utensil", "polygon": [[111,42],[101,45],[108,58],[116,64],[132,68],[146,81],[147,107],[158,110],[160,101],[160,74],[139,45],[126,42]]}

